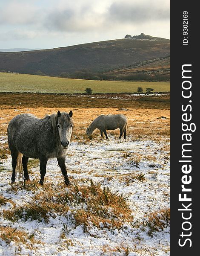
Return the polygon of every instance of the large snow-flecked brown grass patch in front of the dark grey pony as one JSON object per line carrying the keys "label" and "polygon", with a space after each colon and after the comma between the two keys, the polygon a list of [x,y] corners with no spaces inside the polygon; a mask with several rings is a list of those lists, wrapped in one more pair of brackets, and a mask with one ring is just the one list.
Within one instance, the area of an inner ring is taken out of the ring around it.
{"label": "large snow-flecked brown grass patch in front of the dark grey pony", "polygon": [[47,222],[50,215],[53,218],[54,213],[65,215],[70,206],[75,204],[85,205],[74,212],[77,225],[84,224],[86,227],[91,222],[97,227],[101,227],[102,223],[103,226],[119,228],[126,221],[131,221],[131,209],[123,195],[113,193],[109,188],[101,189],[100,185],[94,185],[92,180],[90,182],[89,186],[74,183],[69,189],[61,183],[57,189],[43,186],[30,204],[3,210],[3,217],[13,222],[18,219],[44,219]]}

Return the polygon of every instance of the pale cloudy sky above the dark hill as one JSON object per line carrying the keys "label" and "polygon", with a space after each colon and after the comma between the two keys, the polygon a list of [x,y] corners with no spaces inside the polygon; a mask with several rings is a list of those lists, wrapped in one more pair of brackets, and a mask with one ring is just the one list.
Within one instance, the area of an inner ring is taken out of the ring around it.
{"label": "pale cloudy sky above the dark hill", "polygon": [[170,39],[170,0],[0,0],[0,49],[65,47],[141,32]]}

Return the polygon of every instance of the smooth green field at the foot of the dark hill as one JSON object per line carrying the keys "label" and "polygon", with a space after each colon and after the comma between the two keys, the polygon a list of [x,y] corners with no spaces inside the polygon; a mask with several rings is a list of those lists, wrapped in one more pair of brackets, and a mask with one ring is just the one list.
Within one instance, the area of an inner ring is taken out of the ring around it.
{"label": "smooth green field at the foot of the dark hill", "polygon": [[123,82],[65,79],[50,76],[0,73],[0,92],[31,93],[84,93],[91,88],[93,93],[134,93],[137,87],[153,88],[155,92],[169,92],[170,82]]}

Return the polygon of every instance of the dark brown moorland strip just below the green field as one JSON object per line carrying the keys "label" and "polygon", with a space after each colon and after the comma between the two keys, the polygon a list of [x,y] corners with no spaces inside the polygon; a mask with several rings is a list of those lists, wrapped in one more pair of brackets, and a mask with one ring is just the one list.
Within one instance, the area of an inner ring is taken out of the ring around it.
{"label": "dark brown moorland strip just below the green field", "polygon": [[[3,108],[143,108],[169,109],[170,96],[159,97],[135,96],[135,100],[100,99],[82,96],[65,96],[59,94],[42,93],[0,93],[0,102]],[[21,103],[21,104],[20,104]],[[116,110],[117,110],[116,109]],[[160,117],[160,116],[157,116]],[[167,117],[167,116],[166,116]]]}

